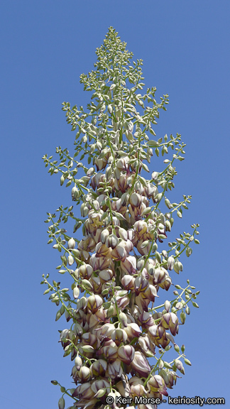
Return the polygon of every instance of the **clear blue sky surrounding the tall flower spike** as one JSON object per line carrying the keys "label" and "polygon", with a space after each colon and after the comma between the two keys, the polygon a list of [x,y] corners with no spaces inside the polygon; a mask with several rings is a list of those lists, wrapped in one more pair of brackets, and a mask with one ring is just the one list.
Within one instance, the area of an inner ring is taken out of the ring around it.
{"label": "clear blue sky surrounding the tall flower spike", "polygon": [[79,76],[93,69],[109,26],[134,60],[143,59],[156,99],[170,96],[158,138],[178,132],[187,143],[173,200],[192,195],[192,203],[172,237],[200,224],[201,244],[182,259],[177,282],[190,278],[201,293],[176,338],[192,366],[170,396],[228,399],[229,12],[227,0],[1,4],[1,408],[57,408],[61,394],[50,381],[70,387],[72,363],[57,343],[65,321],[55,323],[40,280],[43,273],[57,278],[59,262],[47,245],[46,212],[72,202],[41,158],[59,145],[72,148],[61,104],[86,107],[90,94]]}

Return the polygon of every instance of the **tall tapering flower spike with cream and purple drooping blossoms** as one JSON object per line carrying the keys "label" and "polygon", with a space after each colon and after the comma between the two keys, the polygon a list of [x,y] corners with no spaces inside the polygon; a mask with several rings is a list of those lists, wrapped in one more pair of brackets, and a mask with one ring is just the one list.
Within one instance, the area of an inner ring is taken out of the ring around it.
{"label": "tall tapering flower spike with cream and purple drooping blossoms", "polygon": [[[68,325],[60,331],[60,343],[74,363],[75,388],[60,386],[60,409],[66,396],[74,400],[70,408],[156,408],[178,373],[185,373],[183,363],[190,365],[185,346],[180,348],[174,337],[190,314],[190,302],[198,307],[199,292],[189,280],[186,288],[172,281],[182,271],[181,254],[190,256],[192,241],[199,243],[199,225],[192,225],[192,234],[167,241],[174,215],[181,218],[191,199],[184,196],[178,204],[168,199],[185,144],[179,134],[154,138],[152,126],[168,95],[157,103],[155,88],[138,93],[143,62],[132,62],[117,34],[109,28],[97,48],[95,70],[80,76],[84,90],[92,92],[87,111],[63,103],[67,122],[77,131],[75,154],[59,147],[59,163],[43,156],[49,173],[60,173],[60,184],[72,187],[81,213],[76,217],[73,205],[61,206],[57,220],[50,213],[46,220],[52,223],[48,243],[61,253],[57,269],[72,278],[72,292],[55,280],[49,283],[48,275],[42,281],[60,306],[56,320],[65,315]],[[170,148],[174,153],[163,160],[164,170],[146,179],[151,157],[165,156]],[[61,222],[74,222],[74,237]],[[83,237],[77,239],[80,227]],[[172,286],[173,299],[158,302]],[[172,346],[177,356],[165,361]]]}

